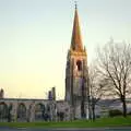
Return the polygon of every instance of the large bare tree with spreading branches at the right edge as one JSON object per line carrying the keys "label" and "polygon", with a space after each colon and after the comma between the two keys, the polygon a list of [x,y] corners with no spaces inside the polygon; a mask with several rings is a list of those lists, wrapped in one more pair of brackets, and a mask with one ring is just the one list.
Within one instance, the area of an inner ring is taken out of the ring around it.
{"label": "large bare tree with spreading branches at the right edge", "polygon": [[107,94],[120,98],[123,117],[127,117],[127,95],[131,91],[131,45],[126,43],[110,43],[98,49],[99,75]]}

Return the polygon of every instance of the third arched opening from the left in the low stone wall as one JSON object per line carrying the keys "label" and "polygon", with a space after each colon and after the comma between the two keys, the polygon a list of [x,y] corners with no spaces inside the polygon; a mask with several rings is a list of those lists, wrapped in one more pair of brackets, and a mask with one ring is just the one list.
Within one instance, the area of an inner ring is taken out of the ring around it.
{"label": "third arched opening from the left in the low stone wall", "polygon": [[35,120],[44,120],[45,118],[45,106],[43,104],[37,104],[35,106]]}

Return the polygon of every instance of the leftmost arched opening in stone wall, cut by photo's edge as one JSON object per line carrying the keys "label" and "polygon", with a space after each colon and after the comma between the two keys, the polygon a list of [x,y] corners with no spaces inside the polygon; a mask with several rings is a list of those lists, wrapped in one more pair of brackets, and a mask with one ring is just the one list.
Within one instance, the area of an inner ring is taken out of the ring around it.
{"label": "leftmost arched opening in stone wall, cut by photo's edge", "polygon": [[0,103],[0,121],[8,120],[8,105],[5,103]]}

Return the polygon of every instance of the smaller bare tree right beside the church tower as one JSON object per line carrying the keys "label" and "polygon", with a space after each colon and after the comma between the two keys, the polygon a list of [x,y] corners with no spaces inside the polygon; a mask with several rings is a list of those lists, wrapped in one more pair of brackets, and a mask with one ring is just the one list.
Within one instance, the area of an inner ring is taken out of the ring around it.
{"label": "smaller bare tree right beside the church tower", "polygon": [[91,66],[88,71],[90,78],[90,103],[92,108],[92,119],[95,120],[95,108],[97,103],[104,96],[106,88],[100,84],[100,78],[95,66]]}

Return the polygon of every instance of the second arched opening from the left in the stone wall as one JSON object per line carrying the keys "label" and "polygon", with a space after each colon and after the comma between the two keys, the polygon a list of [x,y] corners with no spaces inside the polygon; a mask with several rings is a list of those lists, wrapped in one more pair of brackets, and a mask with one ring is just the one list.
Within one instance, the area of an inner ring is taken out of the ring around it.
{"label": "second arched opening from the left in the stone wall", "polygon": [[17,106],[17,120],[19,121],[26,120],[26,107],[24,104],[19,104]]}

